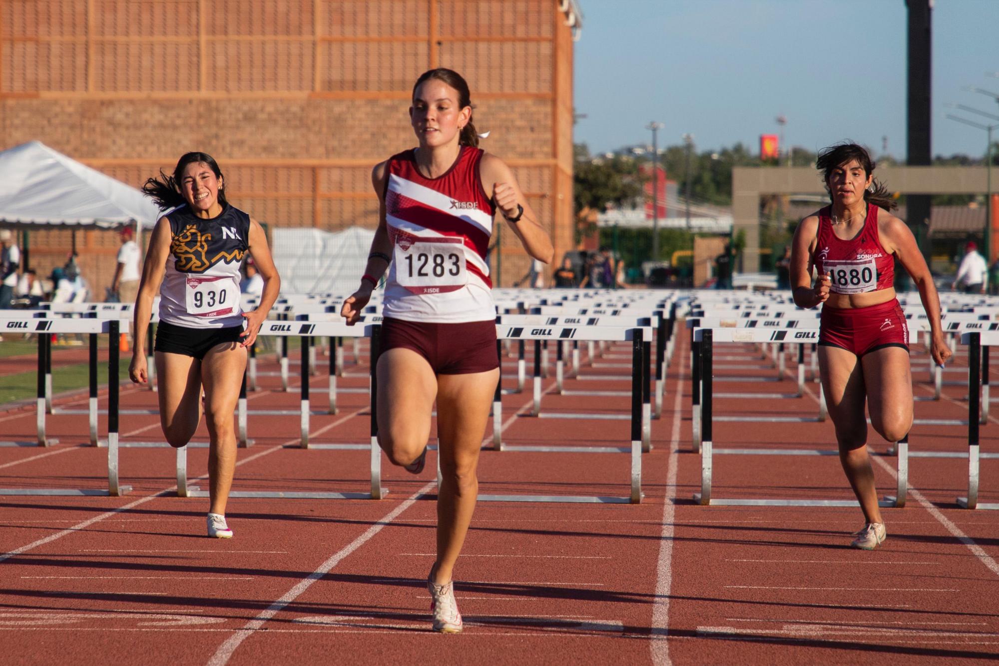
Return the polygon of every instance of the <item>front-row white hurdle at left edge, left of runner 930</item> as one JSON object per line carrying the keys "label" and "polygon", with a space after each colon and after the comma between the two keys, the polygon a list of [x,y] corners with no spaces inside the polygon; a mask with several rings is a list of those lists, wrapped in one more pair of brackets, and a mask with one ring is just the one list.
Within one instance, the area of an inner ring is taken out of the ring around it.
{"label": "front-row white hurdle at left edge, left of runner 930", "polygon": [[[10,311],[14,312],[14,311]],[[0,495],[72,495],[72,496],[113,496],[118,497],[132,490],[131,486],[122,485],[118,478],[118,370],[119,352],[118,337],[128,332],[128,322],[117,319],[42,319],[38,317],[7,318],[0,316],[0,330],[5,333],[28,333],[38,336],[38,382],[36,397],[36,427],[38,441],[31,442],[0,442],[0,446],[50,446],[57,443],[45,432],[45,375],[44,370],[51,367],[51,335],[53,333],[89,334],[91,340],[91,359],[96,366],[97,345],[99,334],[107,334],[108,344],[108,489],[71,489],[71,488],[4,488]],[[92,414],[97,402],[96,371],[91,374],[90,403]],[[51,386],[51,384],[50,384]],[[91,418],[91,437],[94,439],[96,416]]]}

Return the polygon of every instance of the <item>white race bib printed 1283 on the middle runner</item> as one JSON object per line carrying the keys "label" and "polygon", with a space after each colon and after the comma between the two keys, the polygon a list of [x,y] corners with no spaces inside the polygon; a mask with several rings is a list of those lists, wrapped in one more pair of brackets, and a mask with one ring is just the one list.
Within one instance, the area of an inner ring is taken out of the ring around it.
{"label": "white race bib printed 1283 on the middle runner", "polygon": [[395,254],[396,282],[414,294],[457,291],[469,282],[461,238],[401,239]]}

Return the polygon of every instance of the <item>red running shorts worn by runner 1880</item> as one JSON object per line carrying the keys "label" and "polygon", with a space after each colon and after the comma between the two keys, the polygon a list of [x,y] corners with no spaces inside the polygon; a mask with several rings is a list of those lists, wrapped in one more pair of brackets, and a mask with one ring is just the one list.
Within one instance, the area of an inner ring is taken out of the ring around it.
{"label": "red running shorts worn by runner 1880", "polygon": [[898,299],[866,308],[822,306],[818,343],[863,356],[884,347],[909,351],[909,329]]}

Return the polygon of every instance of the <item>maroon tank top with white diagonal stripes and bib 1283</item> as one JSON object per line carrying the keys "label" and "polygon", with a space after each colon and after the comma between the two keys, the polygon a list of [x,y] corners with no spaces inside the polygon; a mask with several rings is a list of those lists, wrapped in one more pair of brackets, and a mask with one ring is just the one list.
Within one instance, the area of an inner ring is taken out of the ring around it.
{"label": "maroon tank top with white diagonal stripes and bib 1283", "polygon": [[494,207],[479,174],[484,151],[462,146],[446,173],[426,178],[416,150],[389,159],[386,222],[393,260],[383,314],[408,321],[496,319],[486,255]]}

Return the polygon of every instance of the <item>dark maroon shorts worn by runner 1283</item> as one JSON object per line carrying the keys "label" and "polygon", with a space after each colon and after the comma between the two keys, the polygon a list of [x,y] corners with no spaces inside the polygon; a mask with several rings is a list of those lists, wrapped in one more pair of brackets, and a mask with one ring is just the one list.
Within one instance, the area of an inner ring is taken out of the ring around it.
{"label": "dark maroon shorts worn by runner 1283", "polygon": [[382,321],[382,351],[412,349],[438,375],[468,375],[500,367],[495,321],[431,324],[386,317]]}

